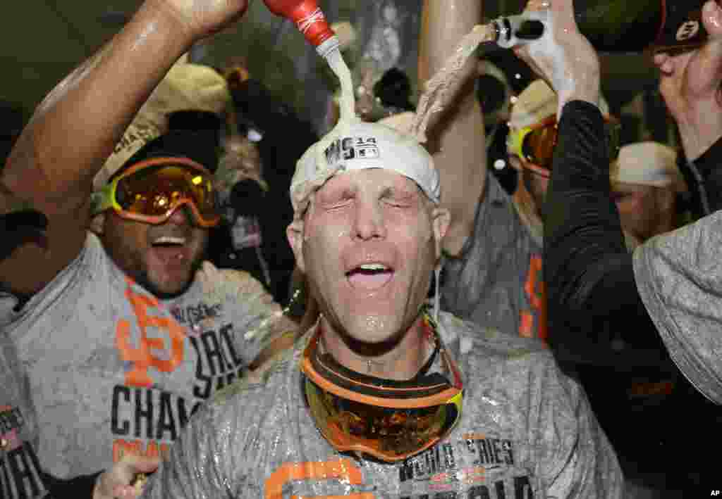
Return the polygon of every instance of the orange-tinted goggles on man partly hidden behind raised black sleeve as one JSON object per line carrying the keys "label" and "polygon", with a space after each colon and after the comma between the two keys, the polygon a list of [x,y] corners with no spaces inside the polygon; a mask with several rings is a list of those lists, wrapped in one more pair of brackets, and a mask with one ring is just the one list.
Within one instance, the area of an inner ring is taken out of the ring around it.
{"label": "orange-tinted goggles on man partly hidden behind raised black sleeve", "polygon": [[[609,146],[609,161],[614,161],[619,156],[621,125],[619,120],[608,115],[604,117],[604,128]],[[557,118],[549,116],[534,125],[510,131],[507,149],[528,163],[551,170],[558,136]]]}

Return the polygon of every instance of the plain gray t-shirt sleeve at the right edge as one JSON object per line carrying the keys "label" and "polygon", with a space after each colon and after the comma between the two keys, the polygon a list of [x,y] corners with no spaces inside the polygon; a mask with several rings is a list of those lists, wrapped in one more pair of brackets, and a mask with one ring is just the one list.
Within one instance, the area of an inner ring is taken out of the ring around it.
{"label": "plain gray t-shirt sleeve at the right edge", "polygon": [[655,237],[634,254],[642,300],[684,376],[722,404],[722,211]]}

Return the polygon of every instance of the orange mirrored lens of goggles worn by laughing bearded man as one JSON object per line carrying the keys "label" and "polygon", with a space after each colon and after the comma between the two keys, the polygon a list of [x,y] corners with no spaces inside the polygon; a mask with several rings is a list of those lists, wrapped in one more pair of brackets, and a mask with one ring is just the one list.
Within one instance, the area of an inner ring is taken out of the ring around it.
{"label": "orange mirrored lens of goggles worn by laughing bearded man", "polygon": [[212,177],[200,169],[185,164],[161,164],[118,180],[116,202],[123,211],[165,216],[183,200],[193,203],[204,220],[217,218]]}

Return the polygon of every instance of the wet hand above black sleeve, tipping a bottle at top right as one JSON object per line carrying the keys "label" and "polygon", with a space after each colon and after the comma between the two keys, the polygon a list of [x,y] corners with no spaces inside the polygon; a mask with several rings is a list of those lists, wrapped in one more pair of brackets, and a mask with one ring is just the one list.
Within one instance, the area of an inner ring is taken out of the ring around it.
{"label": "wet hand above black sleeve, tipping a bottle at top right", "polygon": [[530,0],[526,5],[527,12],[539,10],[547,11],[544,35],[514,52],[557,92],[558,112],[571,100],[599,105],[599,58],[578,30],[573,0]]}

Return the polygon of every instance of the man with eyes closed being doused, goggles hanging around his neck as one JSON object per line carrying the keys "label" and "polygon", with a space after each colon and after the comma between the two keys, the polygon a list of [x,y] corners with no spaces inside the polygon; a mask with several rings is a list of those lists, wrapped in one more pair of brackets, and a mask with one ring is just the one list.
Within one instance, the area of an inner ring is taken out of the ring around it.
{"label": "man with eyes closed being doused, goggles hanging around his neck", "polygon": [[547,348],[427,304],[449,214],[414,136],[342,122],[290,194],[318,322],[201,408],[145,497],[621,497]]}

